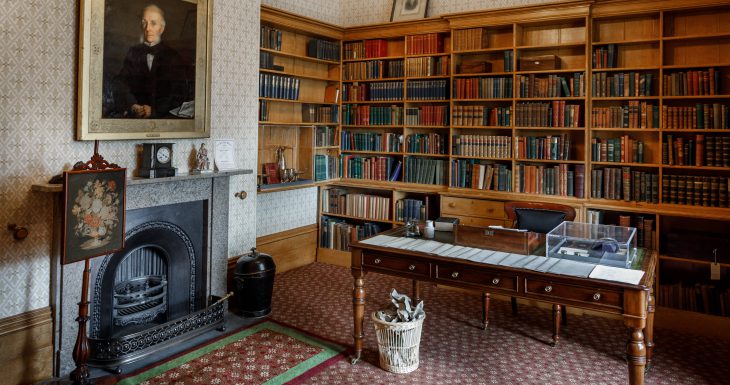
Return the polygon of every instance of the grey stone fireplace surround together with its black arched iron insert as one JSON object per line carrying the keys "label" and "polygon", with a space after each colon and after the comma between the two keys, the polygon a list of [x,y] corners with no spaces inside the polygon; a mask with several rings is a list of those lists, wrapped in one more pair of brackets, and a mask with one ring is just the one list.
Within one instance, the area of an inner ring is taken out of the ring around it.
{"label": "grey stone fireplace surround together with its black arched iron insert", "polygon": [[[226,294],[229,211],[240,215],[229,195],[242,181],[231,176],[249,173],[128,180],[125,247],[91,260],[90,365],[115,369],[223,326],[227,306],[218,298]],[[57,376],[75,367],[82,271],[81,262],[55,258]]]}

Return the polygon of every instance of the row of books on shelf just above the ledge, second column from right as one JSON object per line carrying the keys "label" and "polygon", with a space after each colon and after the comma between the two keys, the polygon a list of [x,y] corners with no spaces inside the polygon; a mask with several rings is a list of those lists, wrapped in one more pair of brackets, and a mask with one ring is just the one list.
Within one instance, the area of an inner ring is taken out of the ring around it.
{"label": "row of books on shelf just above the ledge, second column from right", "polygon": [[591,197],[659,203],[659,174],[631,167],[594,168],[591,170]]}

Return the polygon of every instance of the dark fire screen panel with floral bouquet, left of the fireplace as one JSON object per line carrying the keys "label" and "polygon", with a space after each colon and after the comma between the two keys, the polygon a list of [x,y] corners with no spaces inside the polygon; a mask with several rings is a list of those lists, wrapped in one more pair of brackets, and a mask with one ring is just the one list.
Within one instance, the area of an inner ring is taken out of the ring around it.
{"label": "dark fire screen panel with floral bouquet, left of the fireplace", "polygon": [[66,171],[63,176],[61,263],[121,250],[127,169]]}

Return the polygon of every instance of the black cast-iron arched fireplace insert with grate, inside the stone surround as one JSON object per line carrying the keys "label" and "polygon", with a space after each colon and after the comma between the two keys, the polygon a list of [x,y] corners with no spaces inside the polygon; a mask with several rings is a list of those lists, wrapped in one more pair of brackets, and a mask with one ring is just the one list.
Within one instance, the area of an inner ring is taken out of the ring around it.
{"label": "black cast-iron arched fireplace insert with grate, inside the stone surround", "polygon": [[207,201],[127,212],[124,249],[103,258],[91,288],[92,365],[154,351],[157,344],[125,352],[115,345],[205,307],[207,212]]}

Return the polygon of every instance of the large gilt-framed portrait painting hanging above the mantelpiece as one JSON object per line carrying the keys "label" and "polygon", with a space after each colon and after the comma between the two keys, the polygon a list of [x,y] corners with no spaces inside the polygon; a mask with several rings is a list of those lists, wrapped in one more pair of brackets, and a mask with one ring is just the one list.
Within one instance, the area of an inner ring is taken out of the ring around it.
{"label": "large gilt-framed portrait painting hanging above the mantelpiece", "polygon": [[79,140],[210,136],[212,0],[81,0]]}

